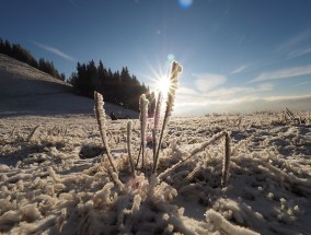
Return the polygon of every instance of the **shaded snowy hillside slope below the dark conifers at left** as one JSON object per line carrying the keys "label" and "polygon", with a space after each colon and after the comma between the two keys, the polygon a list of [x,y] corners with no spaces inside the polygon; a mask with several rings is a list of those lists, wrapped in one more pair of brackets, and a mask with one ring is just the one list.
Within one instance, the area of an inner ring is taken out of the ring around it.
{"label": "shaded snowy hillside slope below the dark conifers at left", "polygon": [[[26,63],[0,54],[0,117],[93,114],[93,101],[71,93],[71,86]],[[107,113],[138,117],[136,111],[105,104]]]}

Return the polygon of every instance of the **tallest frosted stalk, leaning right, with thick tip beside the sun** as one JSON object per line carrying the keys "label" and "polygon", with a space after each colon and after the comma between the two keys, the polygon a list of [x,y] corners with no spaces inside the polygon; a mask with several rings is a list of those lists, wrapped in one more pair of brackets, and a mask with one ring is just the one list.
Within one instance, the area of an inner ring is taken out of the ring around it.
{"label": "tallest frosted stalk, leaning right, with thick tip beside the sun", "polygon": [[164,115],[164,118],[163,118],[163,124],[162,124],[162,129],[161,129],[161,133],[160,133],[160,138],[159,138],[158,149],[157,149],[156,156],[154,156],[152,173],[157,172],[158,161],[159,161],[159,151],[160,151],[160,148],[161,148],[161,142],[162,142],[164,130],[165,130],[165,128],[169,124],[171,116],[172,116],[175,96],[176,96],[176,90],[178,87],[178,78],[180,78],[180,74],[181,74],[182,71],[183,71],[183,67],[180,66],[178,62],[173,61],[172,68],[171,68],[171,75],[170,75],[170,90],[168,92],[166,109],[165,109],[165,115]]}

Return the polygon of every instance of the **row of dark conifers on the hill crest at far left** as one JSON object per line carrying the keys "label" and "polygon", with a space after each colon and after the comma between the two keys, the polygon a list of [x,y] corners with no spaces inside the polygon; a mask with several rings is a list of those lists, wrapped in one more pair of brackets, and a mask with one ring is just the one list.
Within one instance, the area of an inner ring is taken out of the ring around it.
{"label": "row of dark conifers on the hill crest at far left", "polygon": [[11,44],[8,39],[0,38],[0,52],[9,57],[12,57],[21,62],[25,62],[43,72],[46,72],[59,80],[65,81],[64,73],[59,73],[51,61],[41,58],[38,61],[32,56],[32,54],[23,48],[20,44]]}

